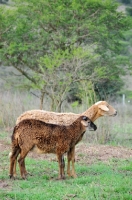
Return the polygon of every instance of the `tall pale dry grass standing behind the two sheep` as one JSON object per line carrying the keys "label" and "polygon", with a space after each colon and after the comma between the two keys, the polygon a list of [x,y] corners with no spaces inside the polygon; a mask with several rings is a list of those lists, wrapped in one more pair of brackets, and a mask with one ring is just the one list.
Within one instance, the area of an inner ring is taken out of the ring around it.
{"label": "tall pale dry grass standing behind the two sheep", "polygon": [[[16,123],[17,117],[23,112],[31,109],[39,109],[39,99],[30,93],[4,92],[0,93],[0,128],[9,132]],[[88,143],[112,144],[132,146],[132,105],[110,103],[118,111],[116,117],[102,117],[95,121],[98,129],[88,132],[83,140]],[[82,113],[89,106],[81,105],[72,107],[70,104],[63,106],[63,112]],[[48,100],[44,102],[44,110],[49,110]]]}

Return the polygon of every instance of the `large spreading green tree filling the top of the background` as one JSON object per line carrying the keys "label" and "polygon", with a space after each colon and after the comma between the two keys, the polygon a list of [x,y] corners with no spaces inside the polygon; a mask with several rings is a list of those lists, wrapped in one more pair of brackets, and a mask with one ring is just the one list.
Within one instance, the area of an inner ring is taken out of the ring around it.
{"label": "large spreading green tree filling the top of the background", "polygon": [[[117,55],[121,52],[123,32],[131,24],[124,14],[117,11],[114,1],[14,2],[12,8],[0,8],[0,57],[4,65],[12,65],[31,82],[30,87],[41,92],[41,108],[44,94],[52,101],[55,99],[56,95],[51,95],[51,91],[52,94],[60,95],[59,100],[53,103],[55,105],[58,101],[60,110],[59,105],[66,98],[73,82],[94,77],[90,82],[98,85],[106,77],[113,81],[124,73],[124,69],[120,68],[122,60],[117,59]],[[83,55],[81,58],[78,55],[77,59],[75,49],[79,49],[80,55]],[[92,57],[84,55],[84,50],[91,51]],[[55,56],[61,60],[57,67]],[[51,74],[51,63],[47,63],[46,59],[54,60]],[[81,63],[77,77],[81,76],[81,79],[72,76],[77,60]],[[56,79],[52,79],[51,75]],[[73,81],[73,77],[76,81]],[[63,84],[66,79],[67,84]],[[65,89],[61,84],[65,85]],[[58,93],[60,88],[63,88],[63,92]],[[54,106],[52,109],[55,110]]]}

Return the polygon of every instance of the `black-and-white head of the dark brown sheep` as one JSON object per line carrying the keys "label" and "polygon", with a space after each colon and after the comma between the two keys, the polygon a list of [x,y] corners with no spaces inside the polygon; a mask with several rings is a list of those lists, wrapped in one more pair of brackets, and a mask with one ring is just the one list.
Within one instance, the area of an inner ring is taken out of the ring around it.
{"label": "black-and-white head of the dark brown sheep", "polygon": [[90,131],[95,131],[97,126],[86,116],[81,116],[81,124]]}

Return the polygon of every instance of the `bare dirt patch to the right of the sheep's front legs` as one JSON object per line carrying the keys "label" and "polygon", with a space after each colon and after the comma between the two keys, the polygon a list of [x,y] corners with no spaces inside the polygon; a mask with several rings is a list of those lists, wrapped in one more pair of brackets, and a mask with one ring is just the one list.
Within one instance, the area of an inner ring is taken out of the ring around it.
{"label": "bare dirt patch to the right of the sheep's front legs", "polygon": [[92,164],[97,161],[108,161],[112,158],[129,159],[132,158],[132,149],[124,147],[114,147],[109,145],[86,145],[80,144],[76,147],[76,159],[83,163]]}

